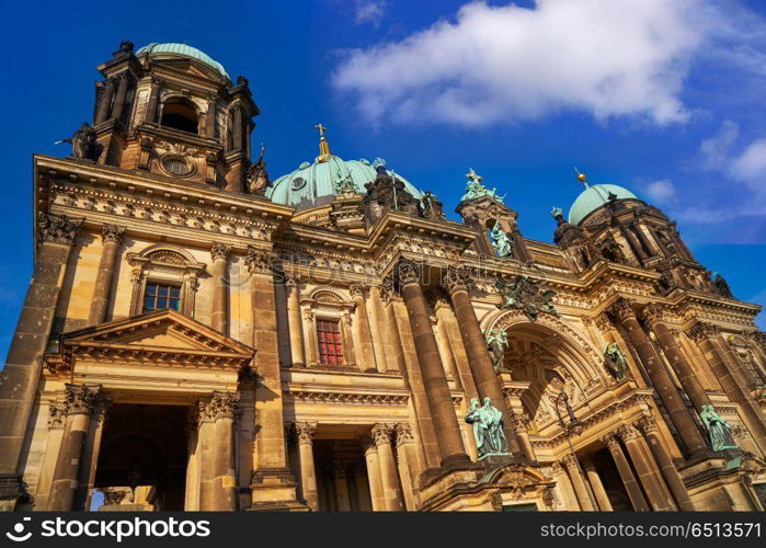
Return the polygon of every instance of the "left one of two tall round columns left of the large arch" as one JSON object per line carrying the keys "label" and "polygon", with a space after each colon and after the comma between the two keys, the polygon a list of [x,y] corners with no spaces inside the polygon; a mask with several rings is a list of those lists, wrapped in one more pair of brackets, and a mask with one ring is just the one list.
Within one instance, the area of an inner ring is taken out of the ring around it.
{"label": "left one of two tall round columns left of the large arch", "polygon": [[431,329],[428,306],[420,286],[420,266],[414,261],[402,260],[397,264],[397,270],[410,318],[428,409],[436,431],[442,466],[453,461],[468,464],[470,460],[462,445],[449,385],[438,354],[436,338]]}

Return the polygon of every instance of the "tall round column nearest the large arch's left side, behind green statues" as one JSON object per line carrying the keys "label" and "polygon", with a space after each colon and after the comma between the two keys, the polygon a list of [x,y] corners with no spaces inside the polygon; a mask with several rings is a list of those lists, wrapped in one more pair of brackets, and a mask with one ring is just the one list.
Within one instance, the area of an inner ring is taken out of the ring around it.
{"label": "tall round column nearest the large arch's left side, behind green statues", "polygon": [[476,317],[473,305],[468,296],[468,285],[470,274],[466,270],[450,266],[443,281],[444,288],[449,294],[455,307],[455,317],[460,327],[460,336],[462,344],[468,354],[468,364],[473,375],[473,383],[479,391],[479,398],[490,398],[492,404],[500,409],[503,413],[503,423],[505,430],[505,438],[508,443],[508,449],[514,455],[522,455],[522,447],[516,438],[511,415],[505,406],[503,390],[498,380],[498,374],[492,365],[489,351],[487,350],[487,341],[481,333],[479,320]]}

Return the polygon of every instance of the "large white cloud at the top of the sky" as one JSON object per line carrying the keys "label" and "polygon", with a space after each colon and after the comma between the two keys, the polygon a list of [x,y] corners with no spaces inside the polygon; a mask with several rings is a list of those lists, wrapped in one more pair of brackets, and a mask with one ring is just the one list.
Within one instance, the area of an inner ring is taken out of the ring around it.
{"label": "large white cloud at the top of the sky", "polygon": [[333,84],[369,122],[485,125],[562,110],[681,122],[704,0],[538,0],[464,5],[401,42],[347,53]]}

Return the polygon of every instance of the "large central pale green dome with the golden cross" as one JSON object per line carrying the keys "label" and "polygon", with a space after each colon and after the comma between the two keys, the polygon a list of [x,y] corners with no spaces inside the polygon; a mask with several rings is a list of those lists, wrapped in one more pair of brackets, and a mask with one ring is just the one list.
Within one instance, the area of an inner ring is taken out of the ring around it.
{"label": "large central pale green dome with the golden cross", "polygon": [[[388,173],[391,174],[391,171],[388,170]],[[332,202],[339,179],[351,176],[356,192],[364,193],[365,184],[371,183],[376,175],[375,168],[367,160],[342,160],[332,156],[324,162],[304,162],[297,170],[276,179],[273,186],[266,191],[266,197],[278,204],[308,209]],[[404,183],[407,192],[414,197],[423,197],[423,194],[399,173],[397,179]]]}

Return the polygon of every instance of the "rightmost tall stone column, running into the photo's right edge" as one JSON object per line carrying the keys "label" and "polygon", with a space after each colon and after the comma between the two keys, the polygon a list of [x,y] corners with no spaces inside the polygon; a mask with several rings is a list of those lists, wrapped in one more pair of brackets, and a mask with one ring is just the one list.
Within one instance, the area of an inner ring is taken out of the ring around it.
{"label": "rightmost tall stone column, running into the photo's right edge", "polygon": [[695,323],[688,331],[688,335],[699,345],[699,350],[710,365],[710,370],[721,384],[729,399],[739,404],[742,418],[747,429],[753,433],[753,439],[761,450],[766,453],[766,425],[764,425],[763,411],[727,367],[723,351],[720,347],[721,343],[718,340],[719,333],[720,329],[717,326],[704,322]]}

